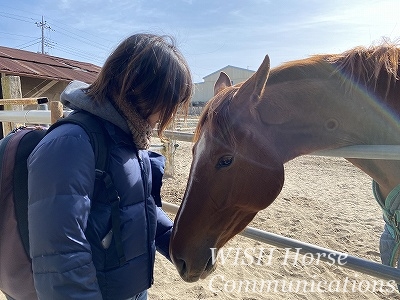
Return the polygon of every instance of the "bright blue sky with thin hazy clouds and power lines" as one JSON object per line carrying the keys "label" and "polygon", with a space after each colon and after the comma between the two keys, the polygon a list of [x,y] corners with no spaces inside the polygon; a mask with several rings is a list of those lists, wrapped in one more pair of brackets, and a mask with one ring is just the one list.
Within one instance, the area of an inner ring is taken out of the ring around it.
{"label": "bright blue sky with thin hazy clouds and power lines", "polygon": [[[0,0],[0,46],[102,66],[126,37],[171,35],[194,82],[356,46],[400,43],[400,0]],[[43,17],[43,23],[42,22]],[[44,26],[40,26],[44,24]]]}

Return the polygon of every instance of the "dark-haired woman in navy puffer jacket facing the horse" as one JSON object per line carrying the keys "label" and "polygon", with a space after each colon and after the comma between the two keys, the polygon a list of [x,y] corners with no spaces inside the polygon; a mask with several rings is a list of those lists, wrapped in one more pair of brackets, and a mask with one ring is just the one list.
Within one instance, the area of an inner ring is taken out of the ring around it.
{"label": "dark-haired woman in navy puffer jacket facing the horse", "polygon": [[60,125],[28,159],[30,254],[39,299],[147,299],[155,249],[169,258],[172,222],[151,195],[161,185],[153,178],[161,177],[163,162],[146,149],[157,123],[162,136],[177,110],[187,111],[191,93],[188,65],[173,40],[152,34],[130,36],[93,84],[74,81],[62,93],[65,106],[99,117],[107,132],[124,260],[114,263],[111,208],[104,194],[94,195],[89,137],[78,125]]}

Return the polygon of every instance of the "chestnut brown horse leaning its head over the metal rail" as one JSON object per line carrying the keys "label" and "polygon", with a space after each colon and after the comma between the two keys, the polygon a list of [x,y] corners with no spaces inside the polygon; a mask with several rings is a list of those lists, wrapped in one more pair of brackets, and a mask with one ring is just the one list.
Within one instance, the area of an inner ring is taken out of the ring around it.
{"label": "chestnut brown horse leaning its head over the metal rail", "polygon": [[[350,145],[400,145],[399,62],[400,48],[385,42],[272,69],[266,55],[236,85],[222,72],[195,131],[171,235],[181,278],[195,282],[216,268],[210,248],[221,249],[277,198],[286,162]],[[383,209],[391,191],[400,194],[399,160],[346,159],[373,179]],[[393,209],[384,216],[398,234]]]}

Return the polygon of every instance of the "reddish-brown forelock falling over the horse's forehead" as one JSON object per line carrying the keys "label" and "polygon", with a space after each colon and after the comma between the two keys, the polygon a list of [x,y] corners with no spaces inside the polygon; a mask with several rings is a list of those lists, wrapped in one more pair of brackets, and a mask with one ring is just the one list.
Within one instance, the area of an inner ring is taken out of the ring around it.
{"label": "reddish-brown forelock falling over the horse's forehead", "polygon": [[207,102],[197,124],[193,142],[196,142],[200,138],[200,134],[205,126],[208,126],[207,129],[211,130],[215,137],[229,143],[234,141],[234,135],[230,126],[229,105],[237,89],[238,87],[231,87],[227,92],[217,95]]}

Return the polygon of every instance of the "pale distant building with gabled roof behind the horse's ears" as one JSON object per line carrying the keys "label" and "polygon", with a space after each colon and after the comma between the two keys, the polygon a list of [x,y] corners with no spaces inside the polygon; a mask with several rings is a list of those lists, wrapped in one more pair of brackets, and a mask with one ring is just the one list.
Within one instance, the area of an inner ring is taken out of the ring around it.
{"label": "pale distant building with gabled roof behind the horse's ears", "polygon": [[250,78],[255,71],[226,66],[203,78],[203,82],[195,83],[194,94],[192,98],[193,106],[204,106],[204,104],[214,96],[214,84],[218,80],[219,74],[225,72],[232,81],[232,84],[243,82]]}

